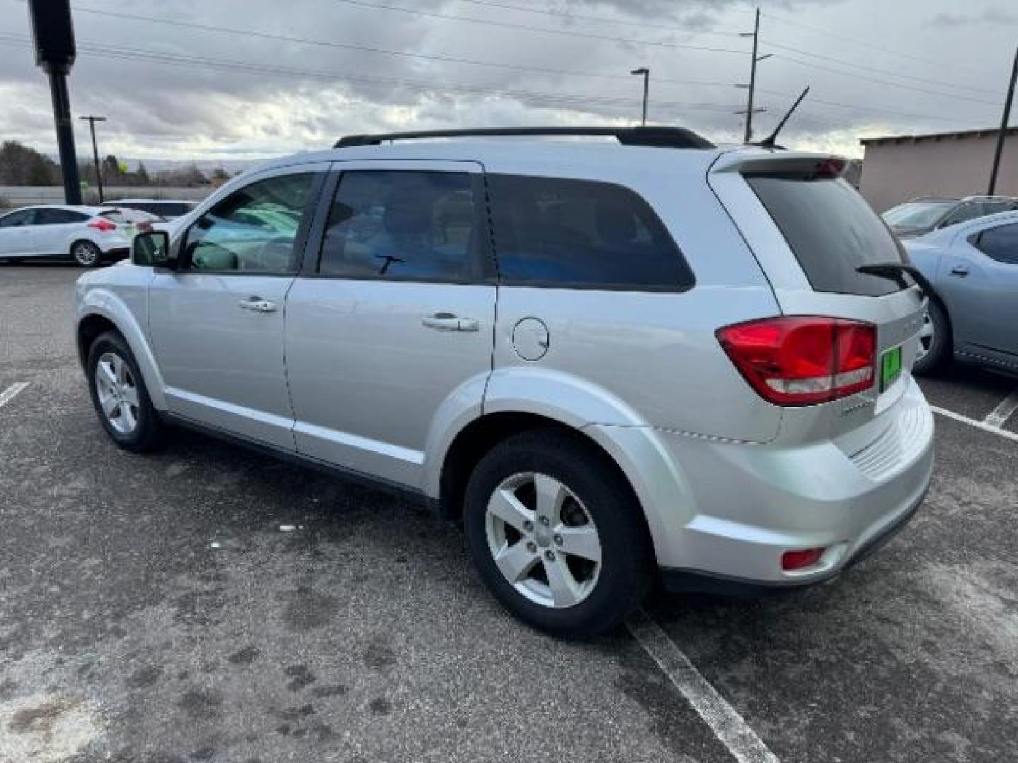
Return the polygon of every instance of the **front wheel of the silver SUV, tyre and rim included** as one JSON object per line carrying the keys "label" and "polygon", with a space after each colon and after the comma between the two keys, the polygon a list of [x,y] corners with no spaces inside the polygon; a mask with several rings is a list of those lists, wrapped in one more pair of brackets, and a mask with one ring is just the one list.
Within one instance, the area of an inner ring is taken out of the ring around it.
{"label": "front wheel of the silver SUV, tyre and rim included", "polygon": [[149,399],[145,379],[123,337],[114,332],[100,335],[89,351],[86,368],[92,403],[110,438],[132,453],[158,448],[166,425]]}

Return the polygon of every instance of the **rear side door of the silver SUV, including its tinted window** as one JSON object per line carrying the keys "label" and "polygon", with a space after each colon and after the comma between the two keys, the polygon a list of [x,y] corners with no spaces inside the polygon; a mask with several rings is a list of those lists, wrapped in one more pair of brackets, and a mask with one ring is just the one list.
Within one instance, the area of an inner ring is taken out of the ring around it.
{"label": "rear side door of the silver SUV, including its tinted window", "polygon": [[286,303],[297,451],[417,487],[436,417],[479,412],[491,372],[483,168],[337,169],[319,260],[305,262]]}

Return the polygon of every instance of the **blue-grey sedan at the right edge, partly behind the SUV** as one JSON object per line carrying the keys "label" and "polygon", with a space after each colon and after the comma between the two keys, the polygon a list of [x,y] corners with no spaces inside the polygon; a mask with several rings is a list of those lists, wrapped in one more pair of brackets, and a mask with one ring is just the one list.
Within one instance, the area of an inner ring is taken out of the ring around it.
{"label": "blue-grey sedan at the right edge, partly behind the SUV", "polygon": [[1018,372],[1018,212],[959,223],[905,247],[935,291],[915,372],[951,358]]}

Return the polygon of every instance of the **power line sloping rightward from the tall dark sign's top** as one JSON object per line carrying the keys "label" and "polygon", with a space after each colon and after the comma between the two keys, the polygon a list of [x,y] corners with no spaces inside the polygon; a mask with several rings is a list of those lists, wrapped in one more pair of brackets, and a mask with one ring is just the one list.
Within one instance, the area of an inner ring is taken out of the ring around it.
{"label": "power line sloping rightward from the tall dark sign's top", "polygon": [[[416,58],[425,61],[437,61],[441,63],[461,63],[472,66],[490,66],[499,69],[509,69],[514,71],[532,71],[540,73],[564,74],[567,76],[595,77],[599,79],[629,79],[627,74],[603,74],[597,72],[576,71],[574,69],[556,69],[547,66],[525,66],[521,64],[509,64],[497,61],[482,61],[471,58],[460,58],[458,56],[448,56],[444,54],[410,53],[408,51],[392,50],[388,48],[378,48],[358,43],[341,43],[333,40],[315,40],[309,38],[292,37],[290,35],[279,35],[275,33],[259,32],[256,30],[241,30],[230,26],[216,26],[213,24],[197,23],[195,21],[181,21],[175,18],[162,18],[159,16],[144,16],[134,13],[121,13],[119,11],[102,10],[99,8],[82,8],[74,6],[75,13],[91,13],[101,16],[110,16],[118,19],[128,19],[133,21],[146,21],[150,23],[161,23],[169,26],[179,26],[182,28],[202,30],[204,32],[221,33],[226,35],[236,35],[240,37],[259,38],[262,40],[278,40],[286,43],[297,43],[300,45],[315,45],[325,48],[339,48],[343,50],[355,50],[364,53],[377,53],[387,56],[398,56],[401,58]],[[660,79],[661,82],[672,82],[675,84],[695,84],[695,85],[724,85],[729,86],[729,82],[702,81],[695,79]]]}

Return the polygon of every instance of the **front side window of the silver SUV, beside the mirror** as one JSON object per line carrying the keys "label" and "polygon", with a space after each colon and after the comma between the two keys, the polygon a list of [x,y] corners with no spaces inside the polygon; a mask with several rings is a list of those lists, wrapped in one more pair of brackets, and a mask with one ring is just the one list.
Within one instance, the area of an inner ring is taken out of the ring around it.
{"label": "front side window of the silver SUV, beside the mirror", "polygon": [[294,241],[314,172],[259,180],[221,200],[187,231],[183,256],[192,271],[295,273]]}

